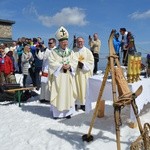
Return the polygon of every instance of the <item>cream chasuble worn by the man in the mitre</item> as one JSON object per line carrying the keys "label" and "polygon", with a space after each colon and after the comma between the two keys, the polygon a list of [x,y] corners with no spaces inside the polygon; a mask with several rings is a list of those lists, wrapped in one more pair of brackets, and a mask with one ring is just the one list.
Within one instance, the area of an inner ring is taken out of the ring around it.
{"label": "cream chasuble worn by the man in the mitre", "polygon": [[[60,52],[60,53],[59,53]],[[65,53],[65,54],[64,54]],[[78,60],[73,51],[66,49],[53,50],[49,57],[49,73],[51,80],[50,102],[58,111],[69,110],[74,107],[77,97],[75,71]],[[70,64],[70,70],[65,73],[63,64]]]}

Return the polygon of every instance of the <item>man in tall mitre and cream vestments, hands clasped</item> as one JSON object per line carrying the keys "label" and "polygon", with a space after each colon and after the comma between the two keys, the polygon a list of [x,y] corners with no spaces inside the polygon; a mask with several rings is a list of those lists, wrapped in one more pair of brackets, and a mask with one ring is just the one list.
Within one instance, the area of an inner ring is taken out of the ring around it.
{"label": "man in tall mitre and cream vestments, hands clasped", "polygon": [[49,73],[52,75],[50,103],[54,118],[69,119],[75,112],[75,72],[78,60],[68,48],[68,36],[68,31],[61,26],[56,32],[59,45],[49,57]]}

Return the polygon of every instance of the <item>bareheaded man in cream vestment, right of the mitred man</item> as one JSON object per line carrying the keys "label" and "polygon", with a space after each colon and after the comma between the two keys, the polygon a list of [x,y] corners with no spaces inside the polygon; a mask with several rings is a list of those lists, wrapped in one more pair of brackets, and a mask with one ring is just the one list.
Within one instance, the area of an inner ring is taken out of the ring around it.
{"label": "bareheaded man in cream vestment, right of the mitred man", "polygon": [[87,80],[93,75],[94,57],[92,52],[84,46],[84,39],[78,37],[77,46],[74,48],[74,52],[78,58],[78,68],[75,75],[77,86],[77,108],[81,108],[85,111],[85,96]]}

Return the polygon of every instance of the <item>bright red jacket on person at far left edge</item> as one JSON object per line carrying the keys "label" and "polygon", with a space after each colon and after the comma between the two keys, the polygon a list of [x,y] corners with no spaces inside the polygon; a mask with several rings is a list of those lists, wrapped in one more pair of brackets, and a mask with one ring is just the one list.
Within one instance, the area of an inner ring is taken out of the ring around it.
{"label": "bright red jacket on person at far left edge", "polygon": [[4,72],[5,75],[9,75],[13,71],[13,62],[10,57],[7,55],[0,56],[0,73]]}

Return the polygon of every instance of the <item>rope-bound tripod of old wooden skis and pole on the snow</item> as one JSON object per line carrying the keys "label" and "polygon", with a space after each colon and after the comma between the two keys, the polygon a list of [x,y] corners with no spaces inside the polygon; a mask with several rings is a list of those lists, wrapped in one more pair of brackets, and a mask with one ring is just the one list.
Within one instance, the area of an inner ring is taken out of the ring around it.
{"label": "rope-bound tripod of old wooden skis and pole on the snow", "polygon": [[[113,47],[114,34],[115,34],[115,30],[112,30],[109,40],[108,40],[110,54],[108,57],[107,67],[106,67],[105,74],[103,77],[102,85],[100,88],[100,92],[98,95],[95,111],[94,111],[94,114],[93,114],[93,117],[91,120],[88,134],[83,135],[82,140],[87,141],[87,142],[90,142],[93,140],[93,136],[91,135],[92,127],[93,127],[94,121],[97,117],[97,112],[99,109],[100,102],[102,100],[102,95],[103,95],[103,91],[105,88],[105,84],[106,84],[106,81],[108,78],[108,74],[110,73],[112,76],[112,94],[113,94],[113,107],[114,107],[114,121],[115,121],[115,128],[116,128],[116,143],[117,143],[117,150],[121,150],[121,146],[120,146],[121,117],[120,117],[120,115],[121,115],[121,109],[123,107],[125,107],[126,105],[129,105],[129,104],[132,105],[132,108],[134,110],[134,114],[136,116],[136,120],[138,123],[140,134],[141,135],[143,134],[141,121],[140,121],[140,118],[138,115],[138,108],[137,108],[137,105],[135,102],[135,98],[142,93],[142,86],[140,86],[135,93],[132,93],[130,91],[130,89],[128,88],[128,83],[123,75],[121,65],[118,60],[118,56],[116,55],[116,53],[114,51],[114,47]],[[116,64],[116,66],[114,66],[114,64]],[[121,79],[118,79],[118,80],[116,80],[116,76],[117,76],[116,68],[120,71],[120,74],[121,74],[121,76],[120,76]],[[118,83],[118,81],[123,82],[122,86]],[[117,97],[117,91],[116,91],[117,88],[118,88],[119,97]],[[124,89],[122,89],[122,88],[124,88]],[[144,142],[144,140],[143,140],[143,142]],[[144,145],[146,145],[146,144],[144,144]]]}

